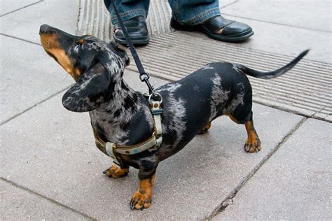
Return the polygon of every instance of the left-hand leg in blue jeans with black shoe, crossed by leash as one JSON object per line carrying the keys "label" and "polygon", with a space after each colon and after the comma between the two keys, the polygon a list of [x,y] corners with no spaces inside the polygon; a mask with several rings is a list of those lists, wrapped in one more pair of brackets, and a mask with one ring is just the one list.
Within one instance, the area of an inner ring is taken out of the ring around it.
{"label": "left-hand leg in blue jeans with black shoe, crossed by leash", "polygon": [[[111,4],[113,0],[104,0],[106,8],[111,13],[113,23],[113,39],[121,44],[127,45],[123,31],[118,24],[118,18]],[[149,0],[116,0],[118,13],[134,45],[148,43],[148,29],[146,27],[146,16],[148,15]]]}

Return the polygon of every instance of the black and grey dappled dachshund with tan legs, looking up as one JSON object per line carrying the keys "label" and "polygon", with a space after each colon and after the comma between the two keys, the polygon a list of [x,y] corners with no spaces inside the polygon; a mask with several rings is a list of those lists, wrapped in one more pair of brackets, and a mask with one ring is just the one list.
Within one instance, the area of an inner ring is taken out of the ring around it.
{"label": "black and grey dappled dachshund with tan legs, looking up", "polygon": [[[72,36],[43,24],[41,44],[71,77],[74,84],[62,97],[68,110],[90,113],[92,129],[104,141],[117,145],[135,145],[146,141],[154,131],[154,120],[148,99],[132,90],[123,80],[129,59],[116,43],[106,43],[94,36]],[[240,64],[215,62],[203,66],[179,81],[158,87],[162,96],[162,143],[134,155],[118,155],[120,167],[106,170],[111,178],[139,169],[139,188],[130,201],[130,208],[148,208],[152,200],[155,170],[163,159],[179,152],[197,134],[204,133],[212,120],[228,115],[237,124],[244,124],[247,141],[244,150],[261,150],[261,141],[254,128],[252,91],[247,75],[255,78],[276,78],[291,69],[308,50],[289,64],[261,73]],[[100,148],[106,153],[104,148]]]}

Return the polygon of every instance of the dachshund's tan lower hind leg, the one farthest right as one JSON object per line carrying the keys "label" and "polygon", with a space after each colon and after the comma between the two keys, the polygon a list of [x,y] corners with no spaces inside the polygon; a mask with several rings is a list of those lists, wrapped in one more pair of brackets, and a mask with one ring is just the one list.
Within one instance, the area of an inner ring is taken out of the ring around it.
{"label": "dachshund's tan lower hind leg, the one farthest right", "polygon": [[230,119],[236,122],[237,124],[244,124],[247,130],[247,141],[244,143],[244,150],[247,152],[258,152],[261,150],[261,140],[258,138],[256,129],[254,127],[254,121],[252,120],[252,111],[249,115],[249,120],[243,122],[243,120],[237,120],[237,117],[229,115]]}

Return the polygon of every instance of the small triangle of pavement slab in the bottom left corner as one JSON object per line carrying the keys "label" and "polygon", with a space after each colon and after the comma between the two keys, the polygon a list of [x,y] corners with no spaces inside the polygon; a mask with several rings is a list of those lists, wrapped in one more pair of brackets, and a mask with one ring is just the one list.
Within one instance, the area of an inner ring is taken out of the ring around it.
{"label": "small triangle of pavement slab in the bottom left corner", "polygon": [[0,180],[0,220],[90,220],[48,199]]}

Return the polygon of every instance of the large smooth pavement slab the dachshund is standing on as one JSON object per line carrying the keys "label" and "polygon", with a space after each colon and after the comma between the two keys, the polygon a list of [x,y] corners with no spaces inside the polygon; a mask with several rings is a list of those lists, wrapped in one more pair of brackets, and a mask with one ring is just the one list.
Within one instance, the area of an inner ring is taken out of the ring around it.
{"label": "large smooth pavement slab the dachshund is standing on", "polygon": [[[134,89],[146,91],[137,73],[127,71],[125,76]],[[152,78],[152,83],[165,82]],[[103,220],[206,218],[303,119],[254,104],[256,130],[263,142],[256,154],[243,150],[247,138],[243,125],[226,117],[215,120],[208,134],[160,164],[151,208],[130,211],[137,171],[117,180],[103,176],[111,159],[95,148],[88,114],[65,110],[61,96],[1,126],[0,175]]]}

